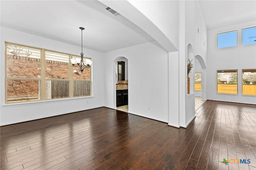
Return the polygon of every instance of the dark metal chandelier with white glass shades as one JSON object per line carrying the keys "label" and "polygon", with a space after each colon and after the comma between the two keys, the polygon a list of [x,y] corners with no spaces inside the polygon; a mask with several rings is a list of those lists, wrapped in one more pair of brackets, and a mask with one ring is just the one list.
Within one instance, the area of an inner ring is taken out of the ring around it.
{"label": "dark metal chandelier with white glass shades", "polygon": [[82,52],[81,54],[81,58],[76,58],[76,59],[70,59],[72,66],[74,67],[78,67],[80,69],[80,71],[83,73],[84,69],[86,68],[90,68],[92,66],[92,60],[91,59],[85,59],[84,60],[84,53],[83,53],[83,27],[79,27],[79,29],[82,31]]}

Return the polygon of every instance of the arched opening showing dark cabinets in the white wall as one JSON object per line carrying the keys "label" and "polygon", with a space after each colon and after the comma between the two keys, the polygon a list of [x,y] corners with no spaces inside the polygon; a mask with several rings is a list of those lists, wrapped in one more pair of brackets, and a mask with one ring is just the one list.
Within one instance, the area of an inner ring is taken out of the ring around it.
{"label": "arched opening showing dark cabinets in the white wall", "polygon": [[128,112],[128,59],[117,57],[114,60],[114,107]]}

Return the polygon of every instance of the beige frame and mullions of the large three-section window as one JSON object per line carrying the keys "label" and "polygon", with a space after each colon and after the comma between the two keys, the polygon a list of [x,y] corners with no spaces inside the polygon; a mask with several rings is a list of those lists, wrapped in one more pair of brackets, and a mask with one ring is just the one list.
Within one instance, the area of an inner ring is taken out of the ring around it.
{"label": "beige frame and mullions of the large three-section window", "polygon": [[[40,50],[40,78],[22,78],[22,77],[8,77],[7,76],[7,45],[16,45],[16,46],[21,46],[21,47],[27,47],[27,48],[32,48],[32,49],[38,49]],[[60,54],[64,54],[64,55],[68,55],[68,68],[69,68],[69,79],[46,79],[46,55],[45,52],[53,52],[53,53],[60,53]],[[76,79],[72,78],[72,75],[74,74],[74,71],[72,69],[72,64],[70,61],[70,58],[72,57],[81,57],[78,55],[74,55],[74,54],[69,54],[69,53],[63,53],[63,52],[59,52],[59,51],[53,51],[53,50],[49,50],[49,49],[44,49],[44,48],[38,48],[38,47],[32,47],[29,45],[23,45],[23,44],[19,44],[19,43],[12,43],[12,42],[7,42],[5,41],[5,104],[18,104],[18,103],[33,103],[33,102],[43,102],[43,101],[56,101],[56,100],[60,100],[60,99],[76,99],[76,98],[84,98],[84,97],[92,97],[92,67],[90,67],[90,79],[79,79],[79,81],[90,81],[90,95],[87,96],[79,96],[79,97],[74,97],[73,96],[73,81]],[[84,57],[84,59],[92,59],[89,57]],[[40,87],[39,87],[39,91],[40,93],[38,93],[38,100],[29,100],[29,101],[8,101],[8,89],[7,89],[7,81],[8,80],[36,80],[36,81],[40,81]],[[64,97],[64,98],[54,98],[54,99],[46,99],[46,81],[49,80],[57,80],[57,81],[69,81],[69,97]]]}

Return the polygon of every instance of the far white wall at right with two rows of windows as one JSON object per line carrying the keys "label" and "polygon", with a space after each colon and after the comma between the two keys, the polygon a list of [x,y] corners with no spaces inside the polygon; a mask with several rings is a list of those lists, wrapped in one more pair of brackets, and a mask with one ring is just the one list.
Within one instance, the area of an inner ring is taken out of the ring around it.
{"label": "far white wall at right with two rows of windows", "polygon": [[[255,96],[242,95],[242,69],[256,69],[256,44],[242,45],[242,28],[256,21],[208,30],[207,99],[256,104]],[[238,29],[238,46],[217,49],[217,33]],[[217,70],[238,69],[238,95],[217,93]]]}

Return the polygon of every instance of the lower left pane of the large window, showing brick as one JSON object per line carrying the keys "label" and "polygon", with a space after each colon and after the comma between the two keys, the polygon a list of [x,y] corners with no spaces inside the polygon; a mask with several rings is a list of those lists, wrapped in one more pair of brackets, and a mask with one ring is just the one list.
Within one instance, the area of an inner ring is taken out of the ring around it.
{"label": "lower left pane of the large window, showing brick", "polygon": [[40,81],[7,80],[7,102],[40,100]]}

